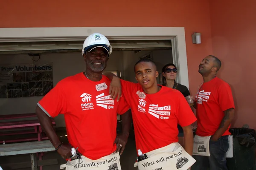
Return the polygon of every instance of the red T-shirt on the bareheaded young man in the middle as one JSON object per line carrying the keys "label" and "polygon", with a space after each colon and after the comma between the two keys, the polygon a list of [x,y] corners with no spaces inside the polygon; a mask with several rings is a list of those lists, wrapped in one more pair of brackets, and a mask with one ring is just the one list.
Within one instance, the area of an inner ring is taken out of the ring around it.
{"label": "red T-shirt on the bareheaded young man in the middle", "polygon": [[161,86],[155,94],[145,94],[138,83],[121,80],[122,94],[131,108],[137,150],[143,153],[178,142],[182,127],[196,121],[184,96]]}

